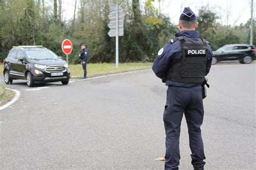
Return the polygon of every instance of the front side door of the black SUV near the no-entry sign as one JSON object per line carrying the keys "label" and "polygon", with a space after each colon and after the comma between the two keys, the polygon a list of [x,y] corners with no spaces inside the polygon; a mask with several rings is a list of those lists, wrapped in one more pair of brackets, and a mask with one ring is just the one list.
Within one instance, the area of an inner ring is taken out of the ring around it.
{"label": "front side door of the black SUV near the no-entry sign", "polygon": [[[18,59],[22,59],[22,60],[19,61]],[[17,52],[16,71],[19,76],[19,79],[25,79],[26,59],[25,59],[24,52],[21,50],[18,50]]]}

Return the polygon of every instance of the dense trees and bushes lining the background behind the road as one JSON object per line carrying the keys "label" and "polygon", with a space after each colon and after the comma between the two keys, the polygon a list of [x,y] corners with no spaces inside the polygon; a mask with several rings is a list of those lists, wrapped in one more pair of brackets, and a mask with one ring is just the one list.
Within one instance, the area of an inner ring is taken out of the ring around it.
{"label": "dense trees and bushes lining the background behind the road", "polygon": [[[115,38],[107,34],[107,16],[117,3],[125,13],[124,36],[119,37],[120,62],[153,61],[158,50],[179,31],[177,23],[171,23],[170,17],[153,5],[160,0],[69,0],[75,4],[69,20],[63,19],[64,0],[46,1],[0,0],[0,62],[12,46],[18,45],[43,45],[65,56],[61,49],[64,39],[73,44],[70,63],[79,63],[81,42],[89,51],[89,62],[114,62]],[[201,6],[196,16],[201,38],[207,39],[213,50],[225,44],[249,44],[251,19],[227,25],[210,5]],[[255,20],[253,25],[255,45]]]}

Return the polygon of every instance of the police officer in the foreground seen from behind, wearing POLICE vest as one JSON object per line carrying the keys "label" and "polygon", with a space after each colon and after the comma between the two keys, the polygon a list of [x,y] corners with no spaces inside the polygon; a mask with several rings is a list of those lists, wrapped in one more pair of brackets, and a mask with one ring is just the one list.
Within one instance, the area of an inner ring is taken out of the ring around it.
{"label": "police officer in the foreground seen from behind, wearing POLICE vest", "polygon": [[202,86],[209,73],[212,49],[196,31],[198,22],[194,12],[185,8],[179,18],[176,39],[171,39],[158,52],[153,71],[168,86],[164,110],[166,133],[165,169],[178,169],[180,124],[185,115],[192,165],[204,169],[204,145],[200,126],[203,123],[204,108]]}

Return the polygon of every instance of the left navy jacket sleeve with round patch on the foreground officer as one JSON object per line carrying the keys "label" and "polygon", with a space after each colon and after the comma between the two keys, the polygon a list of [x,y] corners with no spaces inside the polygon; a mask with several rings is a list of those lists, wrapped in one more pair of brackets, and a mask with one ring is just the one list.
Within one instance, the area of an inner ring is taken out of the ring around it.
{"label": "left navy jacket sleeve with round patch on the foreground officer", "polygon": [[172,46],[173,44],[171,44],[171,42],[167,42],[163,47],[163,53],[160,53],[160,49],[152,66],[154,74],[162,80],[166,77],[167,71],[170,68],[172,55],[175,53]]}

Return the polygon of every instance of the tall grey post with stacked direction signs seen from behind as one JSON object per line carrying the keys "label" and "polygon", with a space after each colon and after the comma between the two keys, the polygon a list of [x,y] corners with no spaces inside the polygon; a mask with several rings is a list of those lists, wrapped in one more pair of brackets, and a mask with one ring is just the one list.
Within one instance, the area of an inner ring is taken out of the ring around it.
{"label": "tall grey post with stacked direction signs seen from behind", "polygon": [[107,34],[110,37],[116,37],[116,67],[118,68],[118,36],[124,36],[124,11],[119,10],[117,5],[116,10],[110,12],[109,19],[107,26],[110,30]]}

